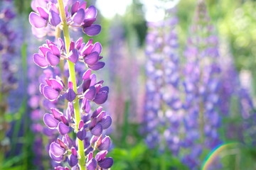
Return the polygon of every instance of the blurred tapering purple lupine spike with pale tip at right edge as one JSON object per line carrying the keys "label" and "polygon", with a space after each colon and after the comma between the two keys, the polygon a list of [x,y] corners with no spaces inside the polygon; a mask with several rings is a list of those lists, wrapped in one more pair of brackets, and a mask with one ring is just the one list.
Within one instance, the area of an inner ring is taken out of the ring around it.
{"label": "blurred tapering purple lupine spike with pale tip at right edge", "polygon": [[[228,140],[236,140],[247,145],[255,144],[255,111],[247,84],[239,79],[233,56],[223,40],[220,48],[220,67],[222,86],[220,86],[220,109],[226,121]],[[249,78],[250,79],[250,78]],[[249,84],[250,85],[250,84]],[[240,120],[240,121],[237,121]]]}

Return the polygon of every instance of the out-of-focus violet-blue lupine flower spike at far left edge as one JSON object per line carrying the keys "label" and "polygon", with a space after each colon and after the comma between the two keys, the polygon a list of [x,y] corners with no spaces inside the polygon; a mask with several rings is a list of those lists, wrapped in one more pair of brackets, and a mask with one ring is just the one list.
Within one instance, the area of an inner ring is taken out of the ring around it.
{"label": "out-of-focus violet-blue lupine flower spike at far left edge", "polygon": [[[13,10],[13,3],[11,1],[0,1],[0,116],[1,116],[1,130],[0,140],[3,141],[0,144],[0,152],[4,155],[10,149],[9,148],[9,130],[10,125],[5,120],[6,112],[15,112],[16,98],[23,95],[21,92],[23,89],[23,81],[18,79],[16,72],[21,71],[18,67],[19,51],[16,47],[17,44],[21,44],[20,30],[14,29],[14,22],[16,21],[16,13]],[[16,23],[17,24],[17,23]],[[19,24],[17,24],[19,26]],[[21,86],[18,86],[21,85]],[[14,89],[19,89],[14,93]],[[19,102],[20,103],[20,102]],[[12,107],[9,107],[12,106]],[[5,142],[4,142],[5,141]],[[0,164],[2,164],[1,159]]]}

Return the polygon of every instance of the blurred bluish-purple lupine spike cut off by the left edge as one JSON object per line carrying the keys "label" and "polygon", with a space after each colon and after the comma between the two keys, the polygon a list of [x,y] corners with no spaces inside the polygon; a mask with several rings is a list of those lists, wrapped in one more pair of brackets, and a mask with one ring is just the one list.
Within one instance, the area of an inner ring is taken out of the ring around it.
{"label": "blurred bluish-purple lupine spike cut off by the left edge", "polygon": [[9,138],[6,137],[9,124],[5,120],[5,113],[9,111],[10,92],[17,86],[15,72],[18,69],[16,62],[19,61],[15,47],[19,36],[12,26],[16,17],[12,5],[11,1],[0,1],[0,164],[9,147]]}

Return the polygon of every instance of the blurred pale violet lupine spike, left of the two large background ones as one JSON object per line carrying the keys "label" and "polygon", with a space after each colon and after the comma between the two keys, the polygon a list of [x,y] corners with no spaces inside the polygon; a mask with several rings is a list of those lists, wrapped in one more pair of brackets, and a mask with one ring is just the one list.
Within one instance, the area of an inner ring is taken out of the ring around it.
{"label": "blurred pale violet lupine spike, left of the two large background ones", "polygon": [[[174,14],[174,13],[172,13]],[[149,23],[146,36],[146,101],[144,132],[149,147],[168,146],[178,152],[178,118],[181,115],[179,98],[179,64],[175,26],[177,18],[171,16],[161,22]],[[169,93],[166,93],[169,91]],[[175,125],[174,125],[175,124]]]}

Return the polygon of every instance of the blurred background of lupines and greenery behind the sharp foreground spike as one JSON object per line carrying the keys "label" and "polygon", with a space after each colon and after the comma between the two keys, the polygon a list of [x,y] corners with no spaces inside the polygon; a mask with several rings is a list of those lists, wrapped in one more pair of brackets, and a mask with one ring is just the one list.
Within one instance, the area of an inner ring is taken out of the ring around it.
{"label": "blurred background of lupines and greenery behind the sharp foreground spike", "polygon": [[[102,26],[113,170],[256,169],[256,1],[87,4]],[[0,5],[0,169],[50,169],[31,57],[45,39],[30,0]]]}

